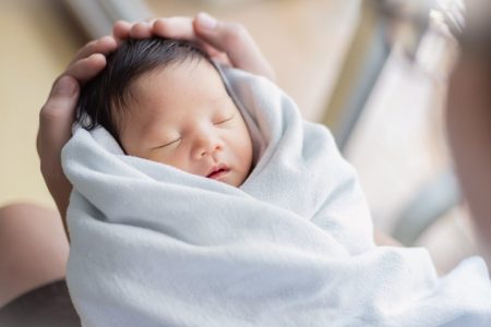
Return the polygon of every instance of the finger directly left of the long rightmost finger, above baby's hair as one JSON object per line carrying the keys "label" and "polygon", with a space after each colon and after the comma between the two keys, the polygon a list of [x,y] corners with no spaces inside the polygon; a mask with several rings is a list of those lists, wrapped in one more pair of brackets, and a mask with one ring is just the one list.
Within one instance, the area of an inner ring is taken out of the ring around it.
{"label": "finger directly left of the long rightmost finger, above baby's hair", "polygon": [[157,19],[153,24],[153,33],[160,37],[196,41],[191,17]]}

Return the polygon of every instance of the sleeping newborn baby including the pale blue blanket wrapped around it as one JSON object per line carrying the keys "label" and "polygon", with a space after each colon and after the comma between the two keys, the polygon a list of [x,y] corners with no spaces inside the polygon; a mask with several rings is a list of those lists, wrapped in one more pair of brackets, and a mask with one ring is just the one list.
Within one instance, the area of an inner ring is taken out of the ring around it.
{"label": "sleeping newborn baby including the pale blue blanket wrapped around it", "polygon": [[330,131],[194,45],[128,40],[62,154],[67,280],[86,326],[489,326],[479,257],[438,277],[375,246]]}

